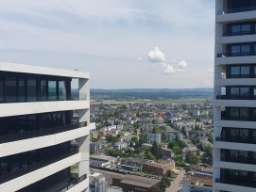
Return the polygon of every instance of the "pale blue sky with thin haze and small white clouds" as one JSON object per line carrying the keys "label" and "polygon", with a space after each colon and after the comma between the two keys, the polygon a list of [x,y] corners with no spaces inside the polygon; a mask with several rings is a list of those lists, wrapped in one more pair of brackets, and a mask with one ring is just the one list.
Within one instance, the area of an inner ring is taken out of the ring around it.
{"label": "pale blue sky with thin haze and small white clouds", "polygon": [[213,0],[0,1],[0,61],[91,88],[213,88]]}

